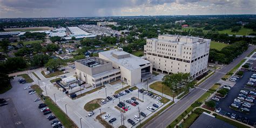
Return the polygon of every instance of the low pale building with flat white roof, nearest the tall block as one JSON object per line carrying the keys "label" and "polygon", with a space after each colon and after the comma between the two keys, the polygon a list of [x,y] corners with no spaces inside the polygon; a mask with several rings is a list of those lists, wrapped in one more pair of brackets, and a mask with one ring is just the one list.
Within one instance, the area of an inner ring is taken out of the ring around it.
{"label": "low pale building with flat white roof, nearest the tall block", "polygon": [[152,64],[149,61],[131,55],[123,49],[99,52],[99,58],[112,62],[113,68],[120,70],[121,79],[131,86],[153,76]]}

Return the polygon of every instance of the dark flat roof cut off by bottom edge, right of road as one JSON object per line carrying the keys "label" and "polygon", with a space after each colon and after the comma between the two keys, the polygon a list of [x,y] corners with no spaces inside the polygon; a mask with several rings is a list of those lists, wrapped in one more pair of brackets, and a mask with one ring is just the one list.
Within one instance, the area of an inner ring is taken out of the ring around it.
{"label": "dark flat roof cut off by bottom edge, right of road", "polygon": [[218,128],[235,128],[235,126],[217,119],[211,114],[206,112],[202,113],[196,121],[190,126],[190,128],[205,128],[205,127],[218,127]]}

